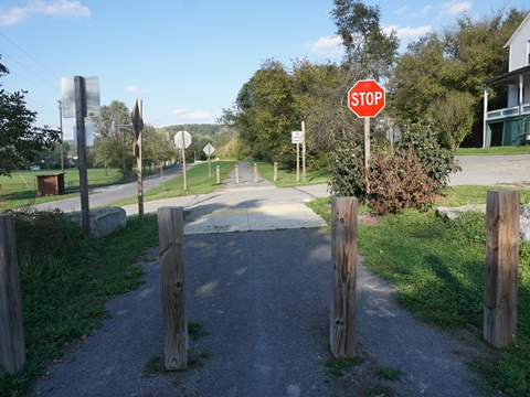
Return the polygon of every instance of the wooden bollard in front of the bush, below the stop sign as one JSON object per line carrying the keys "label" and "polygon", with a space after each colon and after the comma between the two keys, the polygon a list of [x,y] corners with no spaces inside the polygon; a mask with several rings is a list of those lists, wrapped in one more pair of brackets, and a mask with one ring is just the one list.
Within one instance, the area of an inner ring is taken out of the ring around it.
{"label": "wooden bollard in front of the bush, below the stop sign", "polygon": [[357,207],[354,197],[331,201],[330,346],[336,358],[356,356]]}

